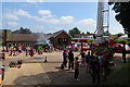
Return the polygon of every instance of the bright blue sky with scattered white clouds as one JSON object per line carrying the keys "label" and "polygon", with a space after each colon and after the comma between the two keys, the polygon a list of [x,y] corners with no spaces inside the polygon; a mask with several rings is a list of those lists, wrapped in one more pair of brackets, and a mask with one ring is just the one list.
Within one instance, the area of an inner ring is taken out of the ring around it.
{"label": "bright blue sky with scattered white clouds", "polygon": [[[98,2],[2,2],[0,26],[11,30],[20,27],[36,33],[68,32],[78,27],[81,33],[96,29]],[[110,34],[123,33],[109,7]]]}

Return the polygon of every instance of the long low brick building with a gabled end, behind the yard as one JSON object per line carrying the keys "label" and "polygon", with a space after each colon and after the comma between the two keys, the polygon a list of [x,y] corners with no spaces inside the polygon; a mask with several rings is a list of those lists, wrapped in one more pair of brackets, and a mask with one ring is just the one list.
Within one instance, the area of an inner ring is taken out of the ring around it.
{"label": "long low brick building with a gabled end, behind the yard", "polygon": [[72,36],[69,36],[65,30],[60,30],[53,34],[43,33],[31,33],[31,34],[16,34],[10,29],[0,29],[2,34],[3,46],[9,49],[11,46],[18,47],[22,46],[23,49],[26,46],[35,47],[36,42],[49,42],[54,47],[69,45]]}

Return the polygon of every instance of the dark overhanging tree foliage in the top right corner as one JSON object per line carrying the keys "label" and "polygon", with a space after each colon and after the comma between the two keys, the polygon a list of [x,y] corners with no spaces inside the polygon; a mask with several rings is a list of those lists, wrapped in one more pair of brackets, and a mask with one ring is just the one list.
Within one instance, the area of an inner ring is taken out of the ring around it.
{"label": "dark overhanging tree foliage in the top right corner", "polygon": [[130,38],[130,1],[129,2],[108,2],[109,5],[114,4],[113,10],[116,12],[116,20],[125,28],[125,34]]}

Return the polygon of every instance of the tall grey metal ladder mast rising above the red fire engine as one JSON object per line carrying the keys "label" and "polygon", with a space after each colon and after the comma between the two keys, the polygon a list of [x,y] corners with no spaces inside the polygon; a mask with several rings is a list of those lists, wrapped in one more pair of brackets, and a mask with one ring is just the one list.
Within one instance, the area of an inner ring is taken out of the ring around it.
{"label": "tall grey metal ladder mast rising above the red fire engine", "polygon": [[108,32],[109,26],[109,7],[104,0],[99,0],[98,21],[96,21],[96,40],[102,40],[104,30]]}

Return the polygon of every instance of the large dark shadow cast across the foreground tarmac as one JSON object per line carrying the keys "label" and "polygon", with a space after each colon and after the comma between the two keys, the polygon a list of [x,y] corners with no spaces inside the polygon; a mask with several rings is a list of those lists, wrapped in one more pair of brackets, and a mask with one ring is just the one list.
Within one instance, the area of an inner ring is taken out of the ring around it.
{"label": "large dark shadow cast across the foreground tarmac", "polygon": [[[119,57],[114,58],[114,61],[117,64],[117,69],[110,72],[110,75],[108,76],[107,80],[110,80],[112,76],[120,72],[119,70],[123,65],[123,63],[118,59]],[[24,62],[24,63],[37,63],[37,62]],[[43,62],[38,62],[38,63],[43,63]],[[52,62],[48,62],[48,63],[52,63]],[[14,80],[14,84],[15,85],[31,85],[31,84],[32,85],[98,85],[92,83],[92,77],[91,75],[86,73],[86,67],[79,67],[80,82],[74,80],[74,70],[70,71],[68,71],[67,69],[61,70],[60,66],[56,66],[55,69],[58,71],[17,77]],[[103,80],[101,78],[100,85],[120,85],[119,83],[107,84],[106,83],[107,80]],[[114,80],[116,80],[116,78]],[[126,85],[126,84],[121,84],[121,85]]]}

